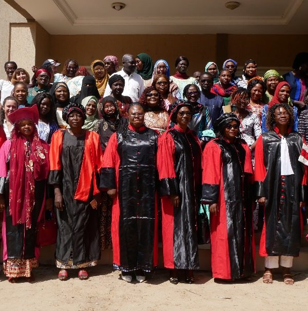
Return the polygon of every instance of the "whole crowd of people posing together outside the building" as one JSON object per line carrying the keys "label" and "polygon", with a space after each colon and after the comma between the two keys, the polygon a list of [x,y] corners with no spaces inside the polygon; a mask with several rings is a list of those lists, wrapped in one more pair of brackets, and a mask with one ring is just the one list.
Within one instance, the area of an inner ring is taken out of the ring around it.
{"label": "whole crowd of people posing together outside the building", "polygon": [[[246,61],[187,74],[180,56],[140,53],[91,63],[92,75],[67,59],[61,74],[47,59],[34,76],[5,64],[0,80],[0,211],[4,273],[33,279],[45,210],[57,223],[58,278],[81,280],[112,248],[113,267],[138,282],[158,266],[160,236],[172,284],[194,282],[197,218],[209,211],[213,277],[255,273],[253,215],[263,212],[263,282],[283,267],[294,284],[307,197],[308,53],[293,71],[257,75]],[[205,207],[204,207],[205,206]],[[279,262],[280,258],[280,262]]]}

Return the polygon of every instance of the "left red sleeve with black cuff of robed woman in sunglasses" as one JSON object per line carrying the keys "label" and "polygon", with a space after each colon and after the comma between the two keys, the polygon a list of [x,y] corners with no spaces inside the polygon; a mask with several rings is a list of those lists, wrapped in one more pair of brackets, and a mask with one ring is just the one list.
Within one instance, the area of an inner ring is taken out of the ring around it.
{"label": "left red sleeve with black cuff of robed woman in sunglasses", "polygon": [[217,203],[221,179],[222,158],[218,144],[211,140],[203,151],[202,201]]}

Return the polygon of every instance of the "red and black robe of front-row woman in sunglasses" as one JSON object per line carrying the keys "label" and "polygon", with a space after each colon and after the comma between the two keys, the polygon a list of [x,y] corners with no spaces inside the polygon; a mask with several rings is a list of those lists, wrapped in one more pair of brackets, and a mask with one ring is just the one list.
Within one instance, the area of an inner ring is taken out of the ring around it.
{"label": "red and black robe of front-row woman in sunglasses", "polygon": [[203,152],[202,201],[218,204],[210,214],[214,278],[239,279],[255,272],[251,153],[244,141],[208,142]]}

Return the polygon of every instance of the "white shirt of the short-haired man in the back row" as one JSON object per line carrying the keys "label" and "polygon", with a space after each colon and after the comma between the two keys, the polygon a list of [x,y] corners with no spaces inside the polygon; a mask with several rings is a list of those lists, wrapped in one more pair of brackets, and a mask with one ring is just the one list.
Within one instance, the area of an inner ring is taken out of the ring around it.
{"label": "white shirt of the short-haired man in the back row", "polygon": [[[121,69],[118,72],[113,73],[111,76],[113,76],[114,74],[119,74],[125,80],[125,86],[124,86],[124,91],[122,95],[129,96],[132,101],[138,101],[144,90],[143,78],[136,72],[133,72],[130,75],[128,75],[127,73],[124,72],[123,69]],[[109,85],[107,85],[104,94],[105,96],[108,96],[110,95],[110,93],[111,93],[111,89]]]}

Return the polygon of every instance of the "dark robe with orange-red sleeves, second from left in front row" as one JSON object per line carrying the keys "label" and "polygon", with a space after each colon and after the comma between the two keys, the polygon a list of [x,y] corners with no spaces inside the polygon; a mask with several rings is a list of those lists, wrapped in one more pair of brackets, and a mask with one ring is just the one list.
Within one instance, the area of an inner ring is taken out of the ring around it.
{"label": "dark robe with orange-red sleeves, second from left in front row", "polygon": [[[57,239],[55,258],[73,264],[100,259],[98,210],[90,202],[100,191],[97,186],[102,167],[100,137],[86,131],[76,138],[68,131],[56,131],[50,145],[49,184],[59,184],[63,211],[56,210]],[[98,179],[98,180],[97,180]]]}

